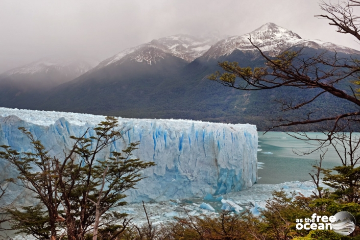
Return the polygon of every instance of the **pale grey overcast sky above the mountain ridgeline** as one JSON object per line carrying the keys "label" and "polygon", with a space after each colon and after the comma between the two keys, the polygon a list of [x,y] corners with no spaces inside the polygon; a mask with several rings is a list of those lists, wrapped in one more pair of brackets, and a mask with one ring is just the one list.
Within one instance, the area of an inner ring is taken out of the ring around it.
{"label": "pale grey overcast sky above the mountain ridgeline", "polygon": [[102,61],[178,33],[243,35],[266,22],[360,50],[314,17],[323,13],[316,0],[0,0],[0,73],[59,54]]}

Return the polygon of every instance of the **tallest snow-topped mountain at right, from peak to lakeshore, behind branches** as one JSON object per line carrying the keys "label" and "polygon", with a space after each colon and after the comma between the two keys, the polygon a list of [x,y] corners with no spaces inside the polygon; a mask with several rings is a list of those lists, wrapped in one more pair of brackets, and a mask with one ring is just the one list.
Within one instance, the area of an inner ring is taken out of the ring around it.
{"label": "tallest snow-topped mountain at right, from peak to lakeshore, behind branches", "polygon": [[[275,25],[266,23],[260,28],[243,36],[232,36],[223,39],[213,46],[201,57],[197,58],[186,66],[188,73],[203,73],[197,78],[205,78],[217,70],[218,62],[229,61],[238,62],[239,66],[262,67],[265,59],[259,51],[250,43],[258,46],[265,54],[275,56],[285,50],[302,49],[304,59],[315,55],[326,53],[327,57],[334,57],[335,52],[340,59],[356,58],[359,51],[349,47],[323,42],[321,40],[304,40],[298,34]],[[323,69],[324,70],[324,69]],[[218,90],[223,86],[211,82],[218,86]],[[341,85],[341,86],[340,86]],[[339,87],[351,91],[348,82],[339,84]],[[212,87],[212,86],[209,86]],[[300,119],[306,116],[308,112],[313,112],[312,117],[323,117],[333,113],[343,113],[355,110],[351,104],[334,97],[331,94],[324,94],[319,99],[308,104],[305,108],[296,111],[282,112],[277,99],[293,98],[294,101],[306,99],[309,95],[317,93],[319,89],[299,89],[294,87],[281,87],[276,89],[261,91],[239,91],[231,89],[227,93],[226,102],[219,104],[216,114],[207,116],[205,119],[212,122],[230,122],[230,123],[251,123],[255,124],[259,130],[266,130],[276,124],[272,119]],[[209,94],[210,95],[210,94]],[[315,94],[316,95],[316,94]],[[204,98],[205,99],[205,98]],[[208,97],[210,99],[210,97]],[[295,104],[295,102],[293,102]],[[205,120],[204,119],[204,120]],[[282,128],[281,130],[304,130],[319,131],[321,125],[298,126],[293,128]],[[278,129],[279,130],[279,129]]]}

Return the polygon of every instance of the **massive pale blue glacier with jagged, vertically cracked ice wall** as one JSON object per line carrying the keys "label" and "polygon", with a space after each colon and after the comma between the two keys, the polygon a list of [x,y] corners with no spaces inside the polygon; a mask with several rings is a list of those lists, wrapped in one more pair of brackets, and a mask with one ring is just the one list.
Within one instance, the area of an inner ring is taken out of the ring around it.
{"label": "massive pale blue glacier with jagged, vertically cracked ice wall", "polygon": [[[25,127],[50,150],[62,156],[69,148],[69,136],[80,136],[87,128],[105,120],[105,116],[20,110],[0,107],[0,145],[18,151],[31,151],[30,142],[17,129]],[[220,195],[251,187],[257,180],[257,131],[249,124],[222,124],[181,119],[118,118],[126,126],[122,139],[104,150],[100,158],[125,149],[130,142],[140,145],[133,156],[154,161],[156,166],[142,171],[136,189],[126,192],[129,203],[160,202],[171,199]],[[90,137],[90,131],[87,137]],[[16,172],[0,160],[0,181],[15,177]],[[5,204],[29,204],[31,198],[10,184]]]}

